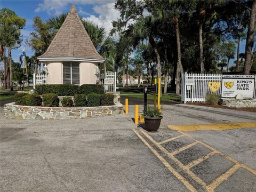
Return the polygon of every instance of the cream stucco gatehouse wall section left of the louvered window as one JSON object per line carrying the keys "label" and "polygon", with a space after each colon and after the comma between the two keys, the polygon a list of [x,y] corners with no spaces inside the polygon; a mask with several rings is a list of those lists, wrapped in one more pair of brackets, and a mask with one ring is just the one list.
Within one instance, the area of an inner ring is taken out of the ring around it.
{"label": "cream stucco gatehouse wall section left of the louvered window", "polygon": [[62,84],[62,63],[60,61],[47,62],[47,84]]}

